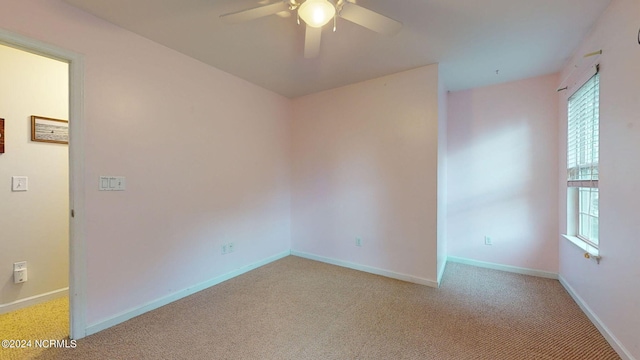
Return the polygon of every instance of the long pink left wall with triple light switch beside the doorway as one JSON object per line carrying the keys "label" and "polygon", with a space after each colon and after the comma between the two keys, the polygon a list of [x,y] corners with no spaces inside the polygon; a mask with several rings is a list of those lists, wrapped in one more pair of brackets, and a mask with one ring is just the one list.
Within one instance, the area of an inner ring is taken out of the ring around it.
{"label": "long pink left wall with triple light switch beside the doorway", "polygon": [[288,99],[61,1],[0,8],[4,29],[85,56],[89,326],[288,251]]}

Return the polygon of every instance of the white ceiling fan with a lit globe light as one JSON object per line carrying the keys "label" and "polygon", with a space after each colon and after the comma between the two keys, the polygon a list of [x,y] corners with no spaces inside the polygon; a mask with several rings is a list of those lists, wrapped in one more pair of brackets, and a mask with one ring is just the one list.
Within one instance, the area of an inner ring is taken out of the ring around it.
{"label": "white ceiling fan with a lit globe light", "polygon": [[300,19],[306,24],[305,58],[318,56],[322,27],[333,20],[333,31],[336,31],[336,18],[338,17],[386,35],[394,35],[402,28],[401,22],[356,5],[349,0],[282,0],[269,5],[220,15],[220,18],[229,23],[238,23],[287,10],[296,11],[298,24],[300,24]]}

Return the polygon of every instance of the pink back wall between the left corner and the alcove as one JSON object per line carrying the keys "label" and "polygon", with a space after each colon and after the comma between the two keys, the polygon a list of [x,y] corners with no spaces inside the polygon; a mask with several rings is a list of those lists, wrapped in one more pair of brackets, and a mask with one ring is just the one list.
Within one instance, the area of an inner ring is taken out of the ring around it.
{"label": "pink back wall between the left corner and the alcove", "polygon": [[293,109],[292,249],[435,281],[438,67]]}

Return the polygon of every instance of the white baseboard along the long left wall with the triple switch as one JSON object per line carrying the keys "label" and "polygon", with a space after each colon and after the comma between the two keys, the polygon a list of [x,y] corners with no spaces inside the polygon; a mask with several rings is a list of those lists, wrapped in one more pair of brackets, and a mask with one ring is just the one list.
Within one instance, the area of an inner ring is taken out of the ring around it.
{"label": "white baseboard along the long left wall with the triple switch", "polygon": [[106,319],[106,320],[100,321],[98,323],[89,325],[87,327],[87,330],[86,330],[86,333],[87,333],[86,336],[89,336],[91,334],[95,334],[95,333],[97,333],[99,331],[102,331],[102,330],[105,330],[105,329],[110,328],[112,326],[115,326],[117,324],[123,323],[123,322],[125,322],[125,321],[127,321],[129,319],[132,319],[132,318],[136,317],[136,316],[142,315],[142,314],[144,314],[146,312],[149,312],[151,310],[155,310],[155,309],[157,309],[157,308],[159,308],[161,306],[167,305],[167,304],[172,303],[172,302],[174,302],[176,300],[180,300],[183,297],[195,294],[198,291],[202,291],[202,290],[204,290],[206,288],[209,288],[211,286],[220,284],[220,283],[222,283],[224,281],[227,281],[229,279],[232,279],[232,278],[234,278],[234,277],[236,277],[238,275],[242,275],[242,274],[244,274],[246,272],[249,272],[251,270],[257,269],[257,268],[259,268],[261,266],[264,266],[264,265],[269,264],[271,262],[274,262],[276,260],[280,260],[280,259],[282,259],[284,257],[289,256],[289,255],[291,255],[290,251],[284,251],[282,253],[270,256],[270,257],[268,257],[268,258],[266,258],[264,260],[258,261],[256,263],[244,266],[244,267],[239,268],[237,270],[230,271],[230,272],[228,272],[226,274],[220,275],[220,276],[215,277],[215,278],[213,278],[211,280],[202,282],[200,284],[197,284],[197,285],[194,285],[192,287],[188,287],[186,289],[177,291],[177,292],[175,292],[173,294],[167,295],[167,296],[162,297],[160,299],[151,301],[151,302],[149,302],[149,303],[147,303],[145,305],[136,307],[134,309],[130,309],[128,311],[125,311],[123,313],[115,315],[115,316],[113,316],[113,317],[111,317],[109,319]]}

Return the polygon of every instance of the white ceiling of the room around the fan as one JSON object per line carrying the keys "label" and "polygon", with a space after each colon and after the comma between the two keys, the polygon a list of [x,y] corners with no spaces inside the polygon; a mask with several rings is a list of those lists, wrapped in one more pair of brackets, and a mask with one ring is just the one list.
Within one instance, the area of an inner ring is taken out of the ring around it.
{"label": "white ceiling of the room around the fan", "polygon": [[305,59],[305,27],[293,15],[240,24],[219,18],[278,0],[65,1],[291,98],[433,63],[452,91],[550,74],[611,2],[358,0],[401,21],[400,33],[380,35],[339,18],[335,33],[325,26],[320,56]]}

